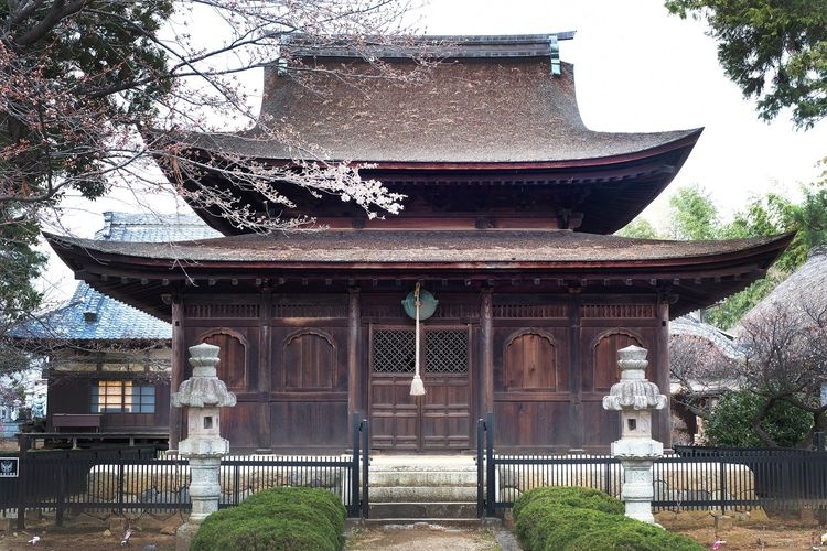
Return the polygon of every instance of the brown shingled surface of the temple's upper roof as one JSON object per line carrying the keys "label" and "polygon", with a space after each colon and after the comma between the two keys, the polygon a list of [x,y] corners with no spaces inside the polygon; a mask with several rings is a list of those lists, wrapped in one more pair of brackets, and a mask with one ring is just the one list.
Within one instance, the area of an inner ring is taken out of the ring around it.
{"label": "brown shingled surface of the temple's upper roof", "polygon": [[[258,128],[180,139],[259,159],[378,163],[586,162],[643,154],[692,134],[697,139],[697,129],[589,130],[580,118],[572,65],[561,63],[560,75],[552,75],[548,56],[449,56],[416,76],[410,60],[384,61],[408,76],[364,76],[372,66],[348,58],[347,66],[363,77],[342,78],[343,60],[336,55],[304,58],[305,67],[315,71],[300,71],[299,79],[267,67]],[[262,126],[275,126],[292,142],[277,142]]]}

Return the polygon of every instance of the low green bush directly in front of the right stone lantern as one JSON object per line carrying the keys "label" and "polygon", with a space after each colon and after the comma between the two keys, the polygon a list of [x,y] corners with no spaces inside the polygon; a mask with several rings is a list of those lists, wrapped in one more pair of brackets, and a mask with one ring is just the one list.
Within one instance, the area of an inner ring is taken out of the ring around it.
{"label": "low green bush directly in front of the right stone lantern", "polygon": [[[560,549],[560,548],[558,548]],[[706,548],[683,533],[624,517],[611,527],[595,528],[571,540],[562,551],[600,549],[601,551],[702,551]]]}

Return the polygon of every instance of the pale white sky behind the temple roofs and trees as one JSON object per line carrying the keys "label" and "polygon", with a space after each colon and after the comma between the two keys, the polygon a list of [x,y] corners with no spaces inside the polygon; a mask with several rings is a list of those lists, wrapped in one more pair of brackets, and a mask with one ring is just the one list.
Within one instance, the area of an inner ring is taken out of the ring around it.
{"label": "pale white sky behind the temple roofs and trees", "polygon": [[[816,163],[827,155],[826,121],[802,131],[786,112],[772,123],[759,120],[754,101],[723,75],[705,23],[669,15],[660,0],[431,0],[410,17],[428,34],[576,31],[573,40],[560,42],[560,57],[574,64],[580,112],[589,128],[704,127],[667,192],[644,213],[656,225],[666,223],[669,190],[701,185],[722,213],[731,214],[770,190],[795,196],[799,183],[817,179]],[[71,229],[92,237],[105,210],[139,208],[129,197],[82,205]],[[50,292],[53,300],[74,289],[60,261],[50,263],[46,279],[57,282]]]}

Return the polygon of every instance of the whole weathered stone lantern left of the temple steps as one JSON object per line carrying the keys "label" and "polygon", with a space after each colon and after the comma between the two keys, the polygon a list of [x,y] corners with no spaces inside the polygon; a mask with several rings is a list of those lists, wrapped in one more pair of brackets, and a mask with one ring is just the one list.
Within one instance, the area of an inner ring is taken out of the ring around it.
{"label": "whole weathered stone lantern left of the temple steps", "polygon": [[179,453],[190,460],[192,514],[176,532],[175,550],[190,548],[201,522],[218,510],[221,461],[229,452],[229,441],[221,436],[219,409],[236,404],[236,396],[216,376],[217,346],[206,343],[190,347],[192,377],[171,397],[176,408],[189,407],[187,437],[179,443]]}

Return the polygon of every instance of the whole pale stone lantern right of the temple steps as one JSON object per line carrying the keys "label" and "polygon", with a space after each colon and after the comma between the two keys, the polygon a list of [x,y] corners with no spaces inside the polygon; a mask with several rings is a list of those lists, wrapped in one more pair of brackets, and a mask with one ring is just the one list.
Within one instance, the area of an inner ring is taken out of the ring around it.
{"label": "whole pale stone lantern right of the temple steps", "polygon": [[652,411],[666,407],[657,385],[646,380],[646,348],[627,346],[617,350],[621,380],[603,397],[603,409],[621,412],[621,439],[612,442],[612,456],[623,465],[621,499],[626,517],[655,523],[652,464],[664,454],[664,445],[652,440]]}

